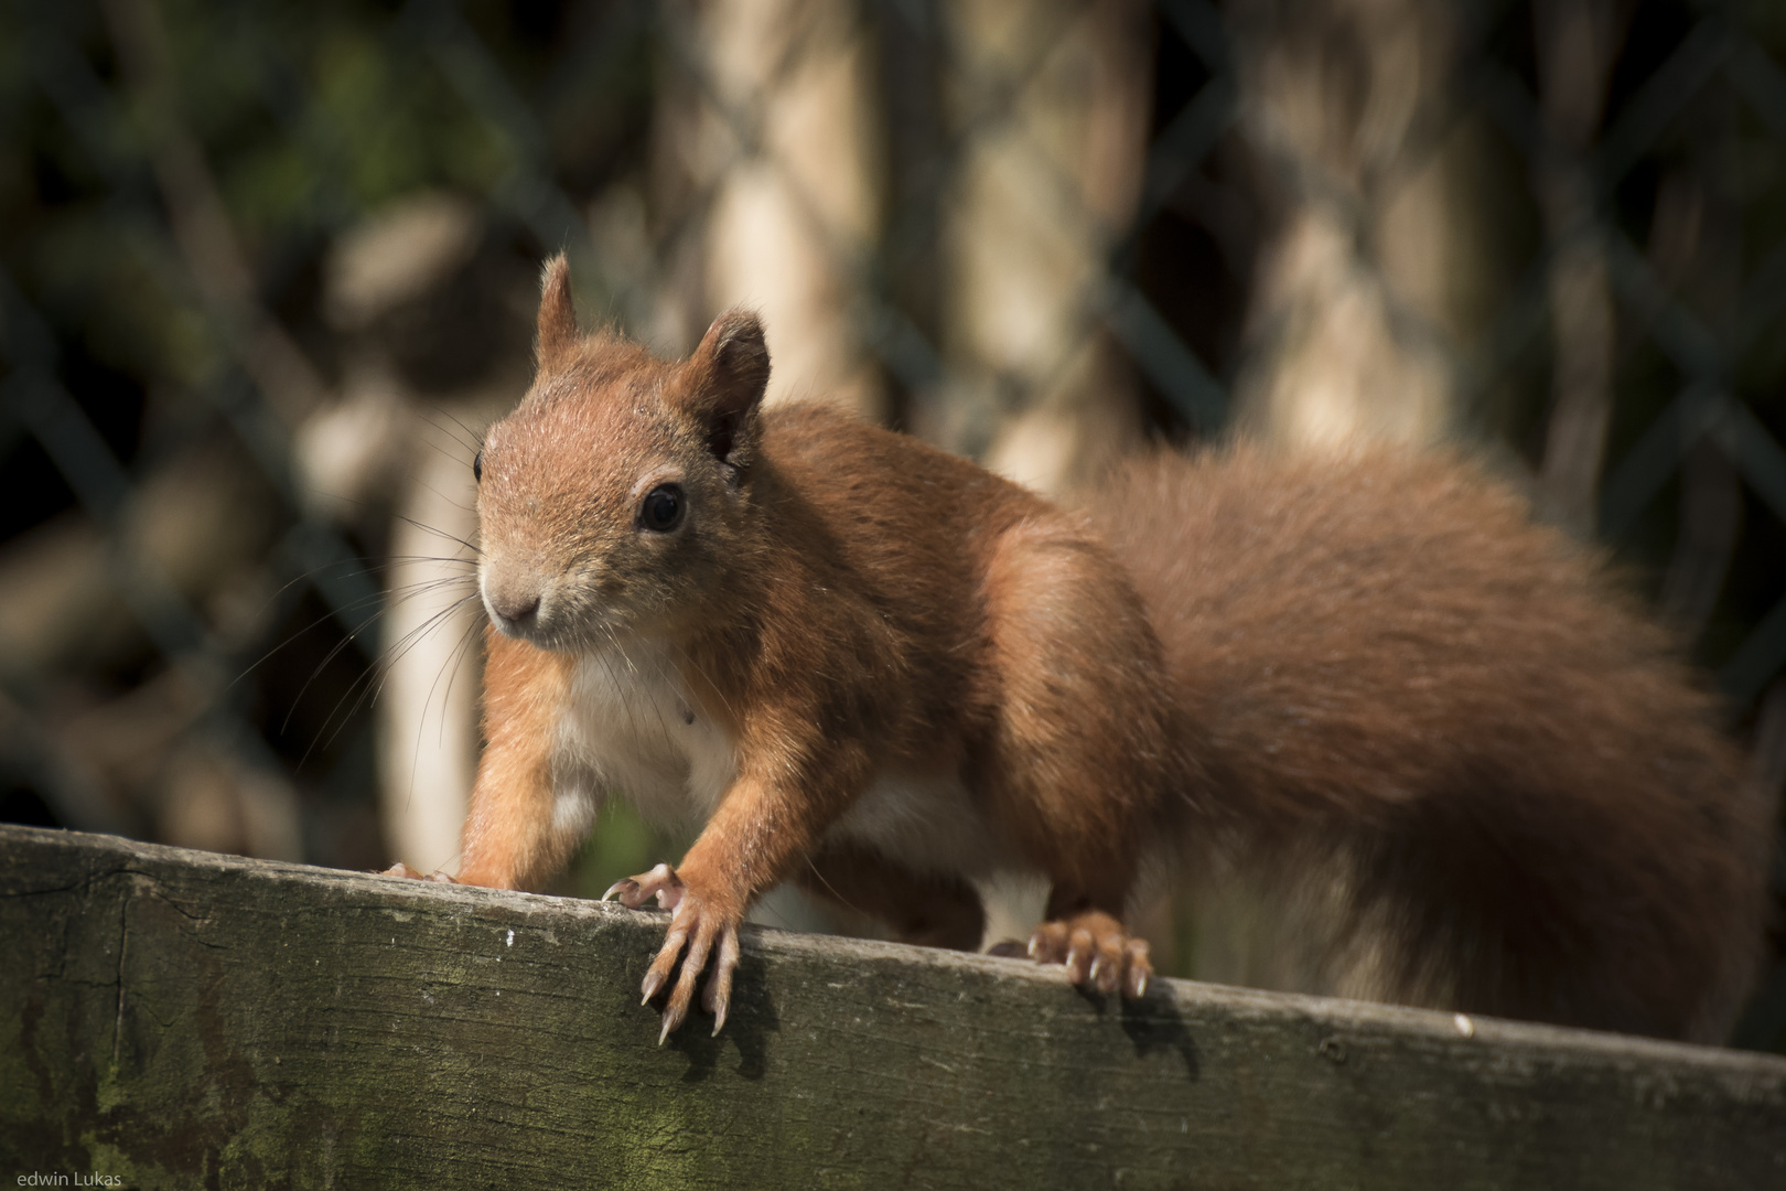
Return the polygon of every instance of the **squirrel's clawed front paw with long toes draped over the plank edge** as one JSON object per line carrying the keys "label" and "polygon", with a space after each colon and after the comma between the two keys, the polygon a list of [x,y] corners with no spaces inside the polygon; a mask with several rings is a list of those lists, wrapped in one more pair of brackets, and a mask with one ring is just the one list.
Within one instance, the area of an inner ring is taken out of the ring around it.
{"label": "squirrel's clawed front paw with long toes draped over the plank edge", "polygon": [[[670,1000],[664,1004],[664,1029],[657,1034],[657,1045],[661,1046],[670,1037],[670,1030],[682,1025],[688,1016],[689,1002],[695,1000],[695,980],[700,979],[709,955],[713,955],[713,975],[707,977],[707,987],[700,995],[700,1007],[713,1014],[713,1032],[718,1034],[732,1004],[732,971],[738,968],[738,927],[745,921],[743,907],[732,909],[722,898],[704,896],[698,889],[682,884],[682,879],[668,864],[616,880],[602,895],[602,900],[611,896],[618,896],[627,909],[639,909],[655,896],[661,907],[673,911],[670,934],[664,936],[664,945],[639,986],[645,993],[641,1004],[650,1004],[670,980],[677,959],[682,959],[682,975],[677,977]],[[682,955],[684,946],[688,948],[686,957]]]}

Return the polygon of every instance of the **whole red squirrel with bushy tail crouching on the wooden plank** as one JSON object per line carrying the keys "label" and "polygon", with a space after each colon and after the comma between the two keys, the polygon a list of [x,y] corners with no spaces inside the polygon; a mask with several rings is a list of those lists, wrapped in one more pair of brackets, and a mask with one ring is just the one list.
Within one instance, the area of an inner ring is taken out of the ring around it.
{"label": "whole red squirrel with bushy tail crouching on the wooden plank", "polygon": [[763,409],[750,312],[684,362],[580,334],[563,257],[538,355],[473,464],[491,627],[457,880],[548,880],[609,793],[704,820],[609,889],[673,911],[643,982],[663,1036],[707,970],[720,1030],[784,880],[977,948],[975,880],[1041,873],[1031,955],[1139,998],[1138,873],[1216,852],[1336,873],[1354,991],[1672,1037],[1734,1014],[1765,862],[1740,757],[1595,557],[1468,462],[1236,445],[1066,511]]}

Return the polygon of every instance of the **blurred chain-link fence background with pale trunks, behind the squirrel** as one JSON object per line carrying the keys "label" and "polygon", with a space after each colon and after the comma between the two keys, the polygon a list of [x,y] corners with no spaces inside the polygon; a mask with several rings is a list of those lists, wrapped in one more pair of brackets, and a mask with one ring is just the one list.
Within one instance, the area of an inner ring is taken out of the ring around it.
{"label": "blurred chain-link fence background with pale trunks, behind the squirrel", "polygon": [[1061,495],[1236,423],[1495,445],[1777,791],[1782,62],[1681,0],[7,0],[5,814],[450,862],[468,461],[559,248],[589,320],[748,302],[773,400]]}

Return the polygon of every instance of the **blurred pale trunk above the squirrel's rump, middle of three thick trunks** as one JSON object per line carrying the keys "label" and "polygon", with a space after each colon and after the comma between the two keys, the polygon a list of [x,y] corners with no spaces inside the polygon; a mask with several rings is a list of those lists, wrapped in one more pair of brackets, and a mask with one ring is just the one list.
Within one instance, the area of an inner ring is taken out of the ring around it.
{"label": "blurred pale trunk above the squirrel's rump, middle of three thick trunks", "polygon": [[1138,0],[970,0],[943,14],[954,380],[920,429],[1066,495],[1139,443],[1136,380],[1095,311],[1147,164],[1150,16]]}

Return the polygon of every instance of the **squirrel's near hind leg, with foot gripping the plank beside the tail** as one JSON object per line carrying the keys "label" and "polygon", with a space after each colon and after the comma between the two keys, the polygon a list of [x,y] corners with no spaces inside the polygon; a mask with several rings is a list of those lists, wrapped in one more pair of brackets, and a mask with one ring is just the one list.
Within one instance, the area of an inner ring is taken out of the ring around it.
{"label": "squirrel's near hind leg, with foot gripping the plank beside the tail", "polygon": [[1006,532],[986,596],[1002,689],[979,771],[1006,834],[1054,882],[1029,954],[1141,996],[1147,943],[1122,914],[1179,777],[1159,641],[1127,573],[1064,518]]}

